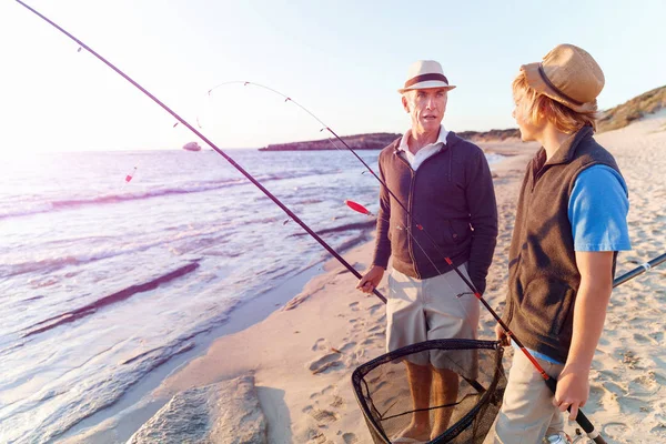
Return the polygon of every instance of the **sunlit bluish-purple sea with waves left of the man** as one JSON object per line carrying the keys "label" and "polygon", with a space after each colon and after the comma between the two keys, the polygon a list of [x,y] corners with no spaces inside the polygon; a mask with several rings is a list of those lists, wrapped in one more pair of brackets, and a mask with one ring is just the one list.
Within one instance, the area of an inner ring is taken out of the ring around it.
{"label": "sunlit bluish-purple sea with waves left of the man", "polygon": [[[375,212],[379,183],[350,152],[225,152],[336,250],[369,239],[373,219],[344,200]],[[359,153],[375,168],[379,151]],[[0,443],[57,441],[330,258],[214,151],[51,153],[3,170]]]}

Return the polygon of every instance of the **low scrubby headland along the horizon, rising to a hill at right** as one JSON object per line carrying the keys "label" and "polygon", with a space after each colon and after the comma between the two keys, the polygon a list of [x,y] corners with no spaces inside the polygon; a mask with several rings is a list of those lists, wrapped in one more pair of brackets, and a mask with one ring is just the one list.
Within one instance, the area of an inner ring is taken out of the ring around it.
{"label": "low scrubby headland along the horizon, rising to a hill at right", "polygon": [[[602,111],[602,117],[598,121],[598,132],[612,131],[624,128],[634,120],[640,119],[647,114],[655,113],[666,108],[666,85],[655,88],[640,95],[637,95],[625,103]],[[456,132],[463,139],[473,142],[501,142],[507,139],[519,140],[521,133],[517,128],[507,130],[490,130],[490,131],[462,131]],[[381,150],[389,145],[395,139],[402,137],[398,133],[392,132],[373,132],[367,134],[343,135],[341,139],[353,150]],[[336,144],[334,145],[333,142]],[[340,147],[337,147],[340,145]],[[265,148],[260,148],[259,151],[320,151],[335,150],[336,148],[344,149],[337,140],[331,137],[331,140],[310,140],[304,142],[276,143]]]}

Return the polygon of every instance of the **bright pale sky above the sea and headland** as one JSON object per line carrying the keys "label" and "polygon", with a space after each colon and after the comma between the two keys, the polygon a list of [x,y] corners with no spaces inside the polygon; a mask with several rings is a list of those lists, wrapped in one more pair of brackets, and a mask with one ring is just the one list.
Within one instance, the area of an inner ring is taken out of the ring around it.
{"label": "bright pale sky above the sea and headland", "polygon": [[[404,132],[396,92],[415,60],[457,88],[453,131],[515,128],[511,82],[558,43],[601,64],[607,109],[666,83],[654,1],[27,0],[222,149]],[[0,159],[80,150],[180,149],[198,138],[16,1],[0,1]],[[199,128],[199,124],[201,128]]]}

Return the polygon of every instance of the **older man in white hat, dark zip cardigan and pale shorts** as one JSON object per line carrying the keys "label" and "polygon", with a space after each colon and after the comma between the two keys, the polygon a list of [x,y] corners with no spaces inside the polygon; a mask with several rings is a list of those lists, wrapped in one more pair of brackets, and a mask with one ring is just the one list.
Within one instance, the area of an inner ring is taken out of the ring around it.
{"label": "older man in white hat, dark zip cardigan and pale shorts", "polygon": [[[483,151],[442,125],[454,88],[436,61],[412,64],[398,90],[412,128],[380,154],[386,186],[380,192],[376,248],[357,289],[372,292],[393,258],[389,351],[434,339],[476,337],[478,301],[446,258],[483,292],[497,238],[497,208]],[[393,442],[430,441],[446,430],[451,408],[435,410],[430,424],[431,389],[434,405],[450,404],[457,397],[458,379],[436,361],[405,361],[415,412]]]}

